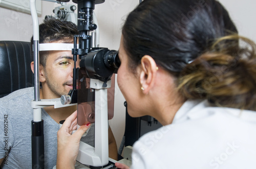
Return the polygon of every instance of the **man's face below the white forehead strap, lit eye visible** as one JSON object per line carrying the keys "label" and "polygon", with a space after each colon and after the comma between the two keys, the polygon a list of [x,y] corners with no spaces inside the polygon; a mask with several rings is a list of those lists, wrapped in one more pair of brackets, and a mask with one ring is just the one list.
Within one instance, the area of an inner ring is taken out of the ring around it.
{"label": "man's face below the white forehead strap, lit eye visible", "polygon": [[[76,66],[78,67],[78,61]],[[44,72],[51,98],[60,98],[61,95],[66,95],[73,89],[73,68],[74,61],[71,51],[50,52]]]}

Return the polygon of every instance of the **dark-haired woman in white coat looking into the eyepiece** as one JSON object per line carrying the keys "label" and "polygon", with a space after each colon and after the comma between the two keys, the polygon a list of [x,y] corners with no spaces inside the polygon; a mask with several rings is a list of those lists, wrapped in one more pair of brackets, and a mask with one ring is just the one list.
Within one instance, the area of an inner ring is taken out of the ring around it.
{"label": "dark-haired woman in white coat looking into the eyepiece", "polygon": [[[215,0],[145,0],[132,11],[118,85],[131,116],[151,115],[163,127],[134,144],[131,168],[254,168],[255,49]],[[58,133],[57,167],[74,165],[76,155],[61,152],[78,151],[87,130],[69,134],[75,116]]]}

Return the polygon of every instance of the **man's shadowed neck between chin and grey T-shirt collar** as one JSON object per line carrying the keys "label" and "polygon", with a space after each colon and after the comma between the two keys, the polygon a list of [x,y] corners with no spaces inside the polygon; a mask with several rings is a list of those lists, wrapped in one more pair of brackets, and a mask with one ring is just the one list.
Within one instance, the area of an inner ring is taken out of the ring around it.
{"label": "man's shadowed neck between chin and grey T-shirt collar", "polygon": [[[53,99],[48,98],[46,95],[44,95],[44,92],[42,89],[40,89],[40,99]],[[60,120],[66,119],[68,116],[70,116],[74,111],[77,110],[77,106],[68,106],[68,107],[62,107],[55,109],[54,106],[49,106],[44,108],[45,111],[55,120],[56,123],[59,123]]]}

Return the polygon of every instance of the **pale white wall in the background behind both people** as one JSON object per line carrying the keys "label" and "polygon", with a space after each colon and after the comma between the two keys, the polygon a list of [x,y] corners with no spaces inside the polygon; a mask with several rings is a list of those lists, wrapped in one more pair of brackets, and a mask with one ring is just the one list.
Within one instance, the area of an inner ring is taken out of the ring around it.
{"label": "pale white wall in the background behind both people", "polygon": [[[236,1],[236,3],[233,0],[220,0],[220,2],[229,11],[233,21],[237,24],[240,34],[256,41],[256,33],[254,31],[256,27],[254,20],[256,2],[253,0]],[[68,4],[75,5],[72,1]],[[105,0],[105,3],[95,6],[100,29],[101,47],[118,50],[121,26],[125,16],[138,4],[139,0]],[[39,17],[39,23],[41,23],[45,15],[53,15],[52,10],[56,6],[59,6],[59,4],[42,1],[42,15]],[[31,15],[0,7],[0,28],[0,40],[30,41],[33,34]],[[124,133],[125,107],[123,106],[123,96],[117,84],[116,88],[115,114],[114,118],[110,120],[110,126],[119,147]]]}

